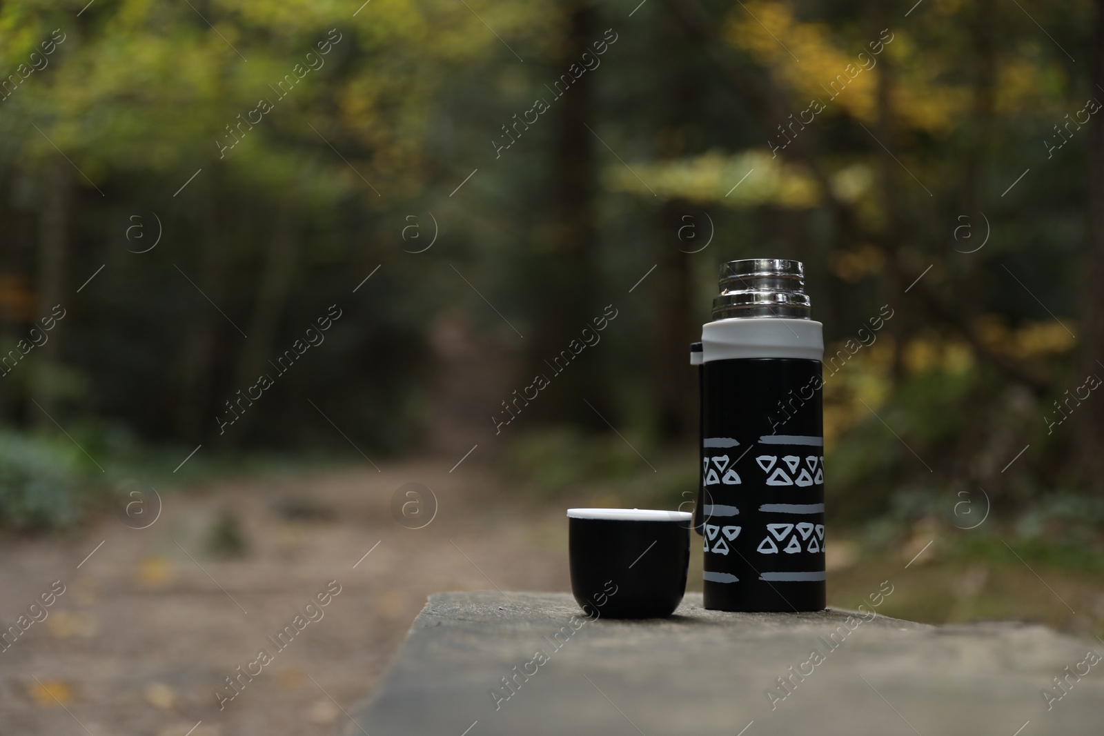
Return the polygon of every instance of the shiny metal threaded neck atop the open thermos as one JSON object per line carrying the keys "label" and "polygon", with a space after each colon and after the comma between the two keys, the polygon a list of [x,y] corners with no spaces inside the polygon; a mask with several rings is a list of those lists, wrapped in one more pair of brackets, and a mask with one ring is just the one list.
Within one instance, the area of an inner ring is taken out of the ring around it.
{"label": "shiny metal threaded neck atop the open thermos", "polygon": [[713,319],[787,317],[811,319],[805,267],[786,258],[746,258],[721,264],[721,294]]}

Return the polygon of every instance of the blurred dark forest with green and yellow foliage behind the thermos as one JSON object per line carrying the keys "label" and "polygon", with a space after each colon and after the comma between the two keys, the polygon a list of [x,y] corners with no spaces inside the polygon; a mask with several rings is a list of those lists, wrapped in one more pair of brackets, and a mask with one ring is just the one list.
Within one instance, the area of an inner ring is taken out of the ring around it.
{"label": "blurred dark forest with green and yellow foliage behind the thermos", "polygon": [[1104,570],[1104,2],[17,0],[0,36],[9,533],[475,445],[503,502],[675,508],[718,266],[789,257],[852,556]]}

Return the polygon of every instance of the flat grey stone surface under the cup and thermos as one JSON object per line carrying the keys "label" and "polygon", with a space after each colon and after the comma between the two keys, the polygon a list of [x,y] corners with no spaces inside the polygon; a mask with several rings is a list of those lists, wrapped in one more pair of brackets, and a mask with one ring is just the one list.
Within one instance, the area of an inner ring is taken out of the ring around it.
{"label": "flat grey stone surface under the cup and thermos", "polygon": [[[700,594],[665,620],[573,617],[569,594],[432,596],[374,698],[350,710],[347,733],[1102,733],[1104,662],[1082,662],[1104,647],[1041,626],[726,614],[704,610]],[[1040,690],[1076,669],[1089,672],[1070,674],[1048,710]],[[516,674],[506,698],[501,679]],[[788,694],[777,680],[787,676]]]}

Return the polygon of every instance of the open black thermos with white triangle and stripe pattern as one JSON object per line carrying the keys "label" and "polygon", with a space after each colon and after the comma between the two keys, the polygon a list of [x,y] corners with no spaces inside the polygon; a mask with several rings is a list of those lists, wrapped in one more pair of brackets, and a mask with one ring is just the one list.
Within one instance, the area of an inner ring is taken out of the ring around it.
{"label": "open black thermos with white triangle and stripe pattern", "polygon": [[825,607],[824,338],[799,262],[721,267],[699,365],[705,608]]}

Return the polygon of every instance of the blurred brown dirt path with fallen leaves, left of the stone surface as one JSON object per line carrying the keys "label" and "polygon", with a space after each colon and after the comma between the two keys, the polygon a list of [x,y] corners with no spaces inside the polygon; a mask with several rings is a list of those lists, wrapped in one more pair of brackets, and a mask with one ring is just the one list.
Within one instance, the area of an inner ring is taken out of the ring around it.
{"label": "blurred brown dirt path with fallen leaves, left of the stone surface", "polygon": [[[438,501],[418,530],[391,510],[411,481]],[[501,498],[475,463],[424,461],[170,494],[148,529],[108,516],[62,541],[0,542],[0,621],[65,586],[0,652],[0,733],[339,734],[429,593],[569,588],[563,512]],[[220,559],[208,540],[226,511],[247,553]],[[309,620],[328,586],[340,593]],[[285,626],[296,636],[279,650],[267,637]],[[259,650],[272,661],[251,664]],[[220,710],[238,666],[261,672]]]}

